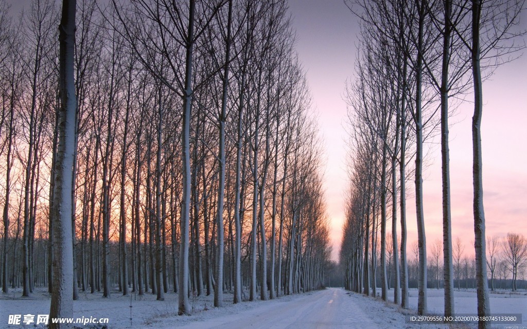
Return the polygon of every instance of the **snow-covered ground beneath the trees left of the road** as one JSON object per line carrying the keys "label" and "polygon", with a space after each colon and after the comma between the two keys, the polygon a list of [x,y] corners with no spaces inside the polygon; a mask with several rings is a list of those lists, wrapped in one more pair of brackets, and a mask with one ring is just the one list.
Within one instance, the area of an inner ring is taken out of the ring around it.
{"label": "snow-covered ground beneath the trees left of the road", "polygon": [[[9,294],[0,294],[0,328],[33,327],[33,325],[8,325],[10,314],[49,314],[50,295],[47,290],[37,289],[30,297],[20,297],[22,291],[17,289]],[[232,294],[224,294],[227,307],[214,308],[213,295],[190,297],[189,304],[192,307],[192,316],[176,316],[178,312],[178,295],[167,293],[164,301],[157,301],[156,295],[150,293],[139,296],[132,293],[122,296],[115,291],[110,298],[102,297],[102,293],[79,293],[79,300],[73,301],[74,317],[108,318],[108,328],[143,328],[159,327],[161,323],[168,323],[169,327],[182,326],[188,323],[203,320],[205,318],[220,316],[224,314],[237,313],[248,308],[257,307],[260,302],[241,303],[232,305]],[[291,300],[292,297],[286,297]],[[132,307],[130,307],[132,305]],[[132,314],[130,316],[130,308]],[[130,317],[132,321],[130,321]],[[36,317],[35,317],[36,319]],[[39,325],[40,327],[44,327]],[[37,326],[37,327],[39,327]],[[85,328],[102,328],[102,325],[80,326]]]}

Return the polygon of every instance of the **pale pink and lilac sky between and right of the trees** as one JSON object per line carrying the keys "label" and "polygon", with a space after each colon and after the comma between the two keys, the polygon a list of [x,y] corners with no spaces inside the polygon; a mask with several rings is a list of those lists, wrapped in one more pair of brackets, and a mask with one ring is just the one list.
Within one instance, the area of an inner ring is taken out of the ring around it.
{"label": "pale pink and lilac sky between and right of the trees", "polygon": [[[307,71],[326,143],[325,188],[331,221],[333,259],[337,260],[344,221],[346,104],[344,85],[354,74],[357,18],[342,0],[289,0],[297,29],[297,51]],[[522,26],[527,26],[523,15]],[[499,67],[483,85],[483,187],[487,236],[519,232],[527,235],[527,56]],[[471,99],[471,95],[467,96]],[[450,127],[452,232],[473,254],[472,121],[470,103],[462,105]],[[442,238],[440,139],[431,148],[424,177],[426,239]],[[413,185],[413,179],[407,183]],[[407,199],[408,253],[417,238],[415,198]],[[397,227],[400,233],[400,226]],[[388,225],[388,230],[391,230]]]}

